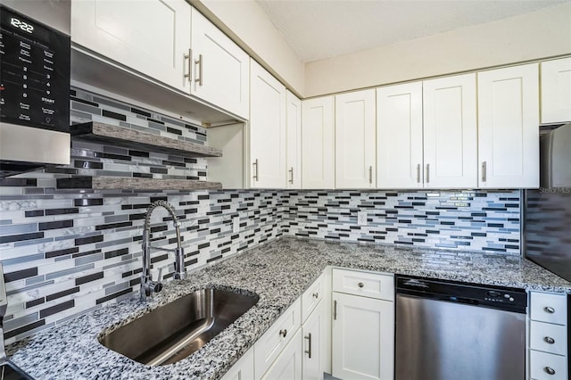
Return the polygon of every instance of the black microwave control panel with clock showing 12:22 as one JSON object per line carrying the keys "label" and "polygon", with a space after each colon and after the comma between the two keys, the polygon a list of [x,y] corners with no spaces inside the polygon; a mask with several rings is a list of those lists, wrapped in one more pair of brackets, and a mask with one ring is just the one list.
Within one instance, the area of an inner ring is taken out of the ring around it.
{"label": "black microwave control panel with clock showing 12:22", "polygon": [[70,37],[0,7],[0,121],[70,131]]}

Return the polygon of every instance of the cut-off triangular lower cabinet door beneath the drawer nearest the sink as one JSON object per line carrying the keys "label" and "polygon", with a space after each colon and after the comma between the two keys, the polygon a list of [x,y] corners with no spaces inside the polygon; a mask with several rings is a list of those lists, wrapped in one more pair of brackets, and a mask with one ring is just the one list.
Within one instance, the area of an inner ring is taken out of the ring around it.
{"label": "cut-off triangular lower cabinet door beneath the drawer nearest the sink", "polygon": [[262,380],[302,380],[302,330],[297,329]]}

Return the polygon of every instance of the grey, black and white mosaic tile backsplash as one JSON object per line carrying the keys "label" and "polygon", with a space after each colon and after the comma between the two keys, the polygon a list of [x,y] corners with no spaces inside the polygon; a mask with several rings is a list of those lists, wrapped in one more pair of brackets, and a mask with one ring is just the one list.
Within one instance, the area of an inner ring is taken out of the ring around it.
{"label": "grey, black and white mosaic tile backsplash", "polygon": [[[206,130],[188,121],[79,88],[71,95],[73,123],[101,121],[206,143]],[[519,191],[55,189],[56,178],[71,175],[206,179],[207,160],[74,142],[70,165],[4,180],[0,261],[9,302],[7,343],[137,296],[145,210],[159,199],[178,211],[191,270],[280,235],[519,254]],[[359,211],[367,212],[367,226],[357,223]],[[236,217],[240,228],[233,233]],[[166,211],[153,213],[152,233],[153,245],[175,247]],[[153,275],[162,268],[169,280],[173,262],[172,253],[153,251]]]}

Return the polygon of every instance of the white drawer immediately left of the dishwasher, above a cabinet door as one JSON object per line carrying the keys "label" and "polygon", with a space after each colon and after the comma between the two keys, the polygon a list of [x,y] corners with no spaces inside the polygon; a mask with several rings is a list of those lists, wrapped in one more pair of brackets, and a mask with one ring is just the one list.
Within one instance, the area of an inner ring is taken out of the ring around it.
{"label": "white drawer immediately left of the dishwasher, above a cabinet door", "polygon": [[334,268],[333,291],[394,301],[394,277],[380,273]]}

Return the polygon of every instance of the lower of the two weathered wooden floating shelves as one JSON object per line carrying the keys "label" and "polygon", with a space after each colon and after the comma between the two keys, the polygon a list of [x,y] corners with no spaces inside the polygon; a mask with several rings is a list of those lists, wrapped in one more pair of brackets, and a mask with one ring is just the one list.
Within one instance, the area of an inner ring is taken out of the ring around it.
{"label": "lower of the two weathered wooden floating shelves", "polygon": [[190,179],[129,178],[129,177],[74,177],[58,178],[58,189],[93,190],[213,190],[221,189],[219,182]]}

